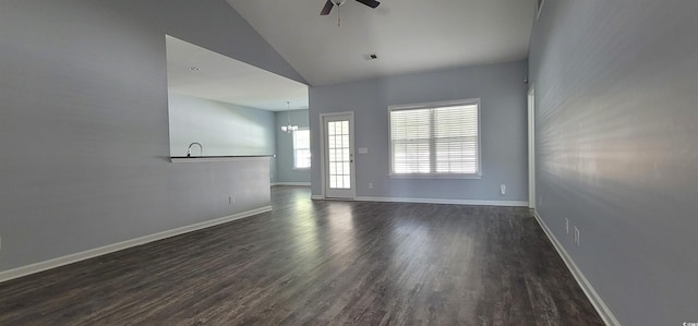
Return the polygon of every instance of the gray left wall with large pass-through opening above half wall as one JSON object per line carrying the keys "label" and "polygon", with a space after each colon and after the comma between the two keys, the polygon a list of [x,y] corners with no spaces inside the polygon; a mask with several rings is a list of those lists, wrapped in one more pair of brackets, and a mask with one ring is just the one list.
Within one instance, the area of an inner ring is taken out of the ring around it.
{"label": "gray left wall with large pass-through opening above half wall", "polygon": [[269,204],[266,166],[167,159],[165,34],[303,82],[222,0],[0,2],[0,270]]}

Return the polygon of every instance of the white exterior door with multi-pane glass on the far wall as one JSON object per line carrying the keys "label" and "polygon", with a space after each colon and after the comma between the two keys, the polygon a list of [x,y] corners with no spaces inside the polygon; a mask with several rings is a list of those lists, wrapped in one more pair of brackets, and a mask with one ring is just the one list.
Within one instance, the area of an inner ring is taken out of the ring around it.
{"label": "white exterior door with multi-pane glass on the far wall", "polygon": [[327,198],[357,195],[353,165],[353,112],[322,114],[323,183]]}

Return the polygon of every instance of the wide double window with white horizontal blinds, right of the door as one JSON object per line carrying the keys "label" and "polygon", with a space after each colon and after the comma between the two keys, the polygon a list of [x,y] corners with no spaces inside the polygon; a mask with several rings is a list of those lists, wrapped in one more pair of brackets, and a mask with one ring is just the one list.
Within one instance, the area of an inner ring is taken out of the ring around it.
{"label": "wide double window with white horizontal blinds, right of the door", "polygon": [[480,99],[388,108],[390,174],[480,176]]}

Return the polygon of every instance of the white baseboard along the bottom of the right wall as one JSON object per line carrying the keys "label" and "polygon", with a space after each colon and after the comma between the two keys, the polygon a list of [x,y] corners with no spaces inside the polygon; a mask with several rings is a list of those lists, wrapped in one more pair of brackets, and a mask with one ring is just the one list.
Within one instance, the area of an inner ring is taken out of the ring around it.
{"label": "white baseboard along the bottom of the right wall", "polygon": [[575,264],[575,261],[573,261],[571,256],[567,253],[562,243],[557,241],[557,238],[555,238],[550,228],[547,228],[547,225],[545,225],[541,216],[538,215],[538,212],[534,213],[534,216],[535,220],[543,229],[543,232],[545,232],[545,236],[547,236],[547,239],[550,239],[550,242],[553,243],[553,246],[555,247],[555,251],[557,251],[557,254],[563,258],[565,265],[567,265],[567,269],[569,269],[571,275],[575,277],[575,280],[577,280],[577,283],[579,283],[581,290],[585,292],[585,294],[587,294],[587,298],[589,298],[589,301],[591,301],[591,304],[597,310],[603,322],[606,325],[621,325],[621,323],[618,323],[618,319],[616,319],[613,315],[613,312],[611,312],[609,306],[603,302],[599,293],[597,293],[597,291],[581,273],[579,267],[577,267],[577,264]]}

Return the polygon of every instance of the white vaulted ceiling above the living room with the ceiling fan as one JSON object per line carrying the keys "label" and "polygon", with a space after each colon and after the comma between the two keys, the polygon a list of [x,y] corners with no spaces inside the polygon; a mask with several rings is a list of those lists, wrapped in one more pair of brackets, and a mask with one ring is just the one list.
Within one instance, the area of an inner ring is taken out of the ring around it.
{"label": "white vaulted ceiling above the living room with the ceiling fan", "polygon": [[325,0],[227,1],[313,86],[525,59],[537,3],[349,0],[321,16]]}

